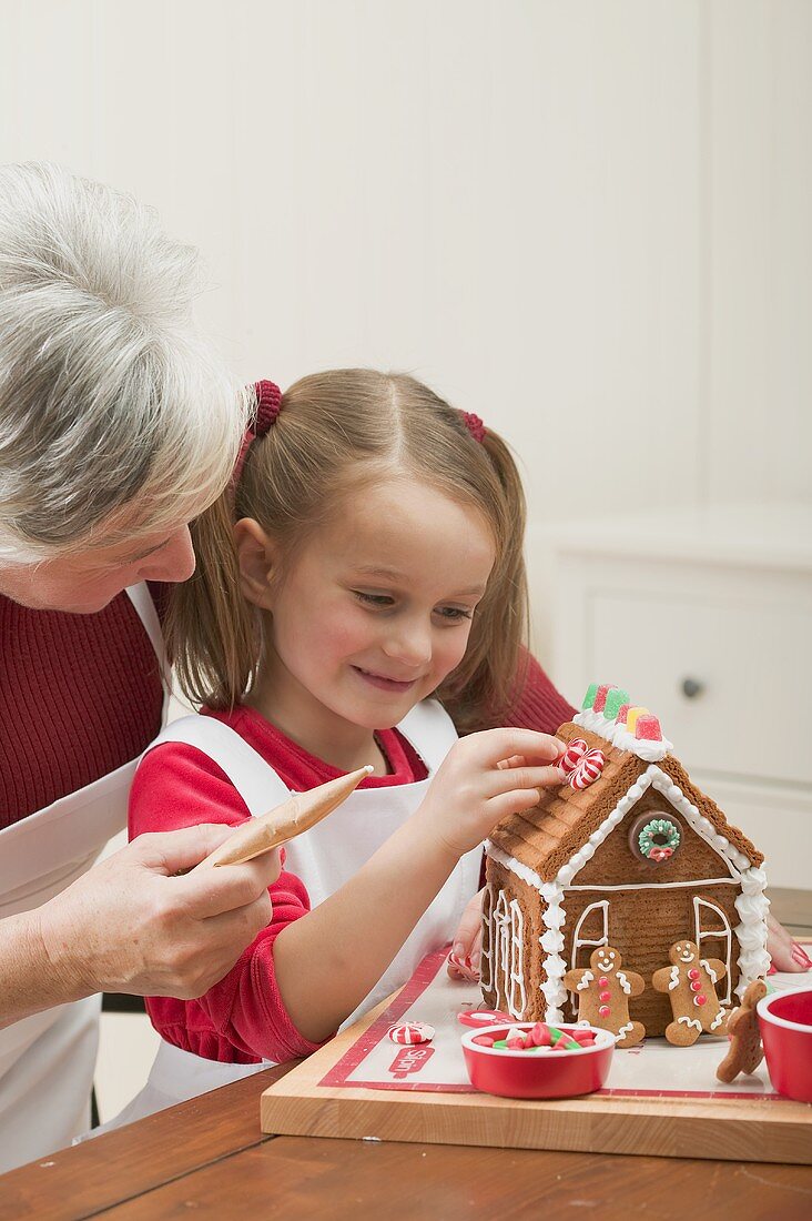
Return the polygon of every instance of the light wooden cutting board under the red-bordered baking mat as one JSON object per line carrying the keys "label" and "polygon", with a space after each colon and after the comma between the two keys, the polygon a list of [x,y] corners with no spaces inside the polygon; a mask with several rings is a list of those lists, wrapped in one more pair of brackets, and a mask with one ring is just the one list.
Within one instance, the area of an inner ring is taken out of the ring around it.
{"label": "light wooden cutting board under the red-bordered baking mat", "polygon": [[788,1099],[591,1094],[530,1103],[321,1085],[391,1004],[383,1001],[266,1089],[263,1132],[812,1165],[812,1106]]}

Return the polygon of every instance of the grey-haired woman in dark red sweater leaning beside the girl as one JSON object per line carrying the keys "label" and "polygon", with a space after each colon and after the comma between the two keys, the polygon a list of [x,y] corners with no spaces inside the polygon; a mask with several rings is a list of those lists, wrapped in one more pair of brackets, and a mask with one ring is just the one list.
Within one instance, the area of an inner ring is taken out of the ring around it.
{"label": "grey-haired woman in dark red sweater leaning beside the girl", "polygon": [[100,991],[198,996],[270,917],[270,858],[176,875],[225,828],[92,868],[167,702],[147,582],[193,571],[245,424],[197,289],[132,199],[0,170],[0,1171],[88,1126]]}

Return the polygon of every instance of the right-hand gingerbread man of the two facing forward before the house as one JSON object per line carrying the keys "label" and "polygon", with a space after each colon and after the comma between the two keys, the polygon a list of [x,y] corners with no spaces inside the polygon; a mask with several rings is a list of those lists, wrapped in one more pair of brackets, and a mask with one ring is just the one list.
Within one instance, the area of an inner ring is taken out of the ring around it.
{"label": "right-hand gingerbread man of the two facing forward before the house", "polygon": [[674,1021],[665,1028],[665,1038],[676,1048],[690,1048],[706,1031],[725,1034],[728,1010],[719,1004],[716,983],[724,979],[727,968],[719,958],[700,958],[694,941],[674,941],[668,951],[670,967],[654,971],[651,983],[654,991],[668,994]]}

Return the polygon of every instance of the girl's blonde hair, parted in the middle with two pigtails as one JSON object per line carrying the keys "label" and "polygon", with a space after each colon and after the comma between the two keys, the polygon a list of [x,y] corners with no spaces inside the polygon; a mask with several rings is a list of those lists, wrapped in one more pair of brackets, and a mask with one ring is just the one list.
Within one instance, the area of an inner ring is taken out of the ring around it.
{"label": "girl's blonde hair, parted in the middle with two pigtails", "polygon": [[465,657],[436,692],[463,731],[498,719],[520,680],[527,624],[525,498],[495,432],[475,440],[462,411],[405,374],[338,369],[295,382],[280,415],[250,446],[236,490],[192,526],[198,567],[172,592],[167,632],[181,685],[214,708],[250,689],[263,656],[263,615],[241,592],[233,525],[254,518],[286,565],[350,495],[396,474],[430,484],[479,512],[496,563]]}

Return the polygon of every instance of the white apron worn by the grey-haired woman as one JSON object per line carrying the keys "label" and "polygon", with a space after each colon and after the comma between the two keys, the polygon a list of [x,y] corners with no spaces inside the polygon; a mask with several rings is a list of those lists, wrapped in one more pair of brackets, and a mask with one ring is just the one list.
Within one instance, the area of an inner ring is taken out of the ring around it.
{"label": "white apron worn by the grey-haired woman", "polygon": [[[155,648],[169,705],[161,626],[147,585],[126,591]],[[39,907],[81,877],[127,825],[138,759],[0,830],[2,919]],[[0,1173],[61,1149],[89,1126],[101,996],[0,1029]]]}

